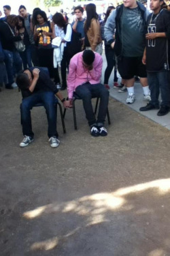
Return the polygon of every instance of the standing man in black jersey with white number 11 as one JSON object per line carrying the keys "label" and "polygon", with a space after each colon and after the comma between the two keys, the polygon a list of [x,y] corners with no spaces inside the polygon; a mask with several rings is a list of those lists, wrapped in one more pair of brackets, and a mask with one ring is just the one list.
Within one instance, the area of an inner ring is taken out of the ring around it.
{"label": "standing man in black jersey with white number 11", "polygon": [[162,9],[163,0],[151,0],[148,16],[148,33],[143,64],[146,64],[151,101],[141,107],[140,111],[159,109],[158,96],[161,92],[162,102],[157,115],[166,115],[170,110],[170,13]]}

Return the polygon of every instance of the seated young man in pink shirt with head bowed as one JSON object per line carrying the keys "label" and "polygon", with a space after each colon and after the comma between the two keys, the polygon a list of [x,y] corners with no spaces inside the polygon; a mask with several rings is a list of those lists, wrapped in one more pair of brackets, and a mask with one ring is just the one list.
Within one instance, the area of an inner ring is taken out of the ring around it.
{"label": "seated young man in pink shirt with head bowed", "polygon": [[[103,60],[99,53],[85,50],[72,57],[67,76],[70,104],[75,91],[74,94],[82,98],[84,111],[90,126],[90,134],[94,137],[107,136],[104,122],[109,101],[109,91],[101,84],[102,64]],[[96,97],[100,98],[97,119],[91,102],[91,99]]]}

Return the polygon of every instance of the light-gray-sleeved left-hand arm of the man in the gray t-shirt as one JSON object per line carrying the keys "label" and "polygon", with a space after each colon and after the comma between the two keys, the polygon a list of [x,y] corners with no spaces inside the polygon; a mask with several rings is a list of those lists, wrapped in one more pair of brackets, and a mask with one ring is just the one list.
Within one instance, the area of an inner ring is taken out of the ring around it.
{"label": "light-gray-sleeved left-hand arm of the man in the gray t-shirt", "polygon": [[105,40],[111,44],[112,48],[114,47],[114,31],[116,29],[116,10],[113,10],[112,14],[109,15],[105,23]]}

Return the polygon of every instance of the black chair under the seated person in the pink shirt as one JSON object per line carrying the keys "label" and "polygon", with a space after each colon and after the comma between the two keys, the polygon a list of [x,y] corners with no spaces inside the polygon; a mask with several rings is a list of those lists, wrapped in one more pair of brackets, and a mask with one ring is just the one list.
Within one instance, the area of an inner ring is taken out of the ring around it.
{"label": "black chair under the seated person in the pink shirt", "polygon": [[[98,105],[99,105],[99,99],[100,98],[97,98],[97,101],[96,101],[96,105],[95,105],[95,115],[97,113],[97,108],[98,108]],[[67,98],[68,100],[68,98]],[[74,121],[74,129],[75,130],[78,130],[78,126],[77,126],[77,119],[76,119],[76,115],[75,115],[75,100],[82,100],[82,98],[80,98],[78,96],[78,94],[75,94],[75,92],[73,93],[73,121]],[[65,118],[65,113],[66,113],[66,109],[64,110],[63,112],[63,117]],[[107,107],[107,120],[108,120],[108,124],[111,124],[110,122],[110,118],[109,118],[109,109]]]}

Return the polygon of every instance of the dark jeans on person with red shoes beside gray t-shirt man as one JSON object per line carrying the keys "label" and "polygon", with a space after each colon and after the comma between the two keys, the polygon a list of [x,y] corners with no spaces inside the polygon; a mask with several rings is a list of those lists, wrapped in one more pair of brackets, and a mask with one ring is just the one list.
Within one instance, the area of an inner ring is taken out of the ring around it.
{"label": "dark jeans on person with red shoes beside gray t-shirt man", "polygon": [[105,57],[107,61],[107,68],[105,69],[104,84],[107,84],[109,82],[109,76],[111,75],[113,68],[114,82],[118,82],[114,50],[111,48],[111,46],[108,46],[107,44],[105,44]]}

